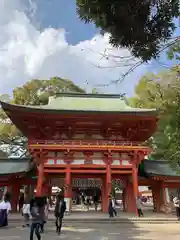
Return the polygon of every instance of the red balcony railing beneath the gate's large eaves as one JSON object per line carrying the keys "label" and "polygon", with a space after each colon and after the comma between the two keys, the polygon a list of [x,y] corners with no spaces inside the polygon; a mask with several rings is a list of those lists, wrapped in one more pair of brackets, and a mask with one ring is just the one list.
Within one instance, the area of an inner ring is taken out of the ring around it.
{"label": "red balcony railing beneath the gate's large eaves", "polygon": [[29,145],[62,145],[62,146],[138,146],[141,142],[119,140],[30,140]]}

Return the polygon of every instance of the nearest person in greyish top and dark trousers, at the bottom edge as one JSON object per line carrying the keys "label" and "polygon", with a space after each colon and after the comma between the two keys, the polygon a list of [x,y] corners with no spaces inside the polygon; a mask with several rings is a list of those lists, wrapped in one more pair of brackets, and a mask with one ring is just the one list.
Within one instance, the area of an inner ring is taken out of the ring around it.
{"label": "nearest person in greyish top and dark trousers, at the bottom edge", "polygon": [[40,209],[37,205],[37,201],[35,199],[31,200],[30,203],[30,213],[32,217],[31,229],[30,229],[30,240],[34,238],[34,232],[38,240],[41,240],[40,227],[41,227],[41,216]]}

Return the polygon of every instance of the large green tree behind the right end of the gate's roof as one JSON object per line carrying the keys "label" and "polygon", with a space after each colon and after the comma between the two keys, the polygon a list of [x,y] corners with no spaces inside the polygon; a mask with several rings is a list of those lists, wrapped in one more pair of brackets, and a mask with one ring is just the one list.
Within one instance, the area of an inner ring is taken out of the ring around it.
{"label": "large green tree behind the right end of the gate's roof", "polygon": [[147,144],[153,148],[153,158],[169,159],[175,165],[180,163],[179,92],[180,66],[175,66],[168,71],[142,77],[135,96],[129,100],[132,106],[158,110],[158,129]]}

